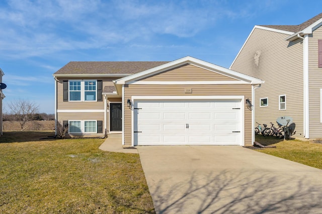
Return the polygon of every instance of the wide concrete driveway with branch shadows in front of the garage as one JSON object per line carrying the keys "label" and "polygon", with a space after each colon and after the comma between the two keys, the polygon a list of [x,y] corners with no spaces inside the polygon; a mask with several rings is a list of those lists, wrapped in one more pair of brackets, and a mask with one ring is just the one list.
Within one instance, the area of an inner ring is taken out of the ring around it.
{"label": "wide concrete driveway with branch shadows in front of the garage", "polygon": [[240,146],[137,146],[157,213],[322,213],[322,170]]}

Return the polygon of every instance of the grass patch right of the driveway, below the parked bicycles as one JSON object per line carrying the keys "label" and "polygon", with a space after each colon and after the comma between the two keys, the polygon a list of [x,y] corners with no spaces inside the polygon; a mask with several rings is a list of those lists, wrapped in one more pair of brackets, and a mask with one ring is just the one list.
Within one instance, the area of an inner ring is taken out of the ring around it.
{"label": "grass patch right of the driveway, below the parked bicycles", "polygon": [[256,141],[265,146],[276,146],[276,148],[256,151],[322,169],[322,144],[299,140],[284,141],[276,137],[263,137],[262,135],[257,135]]}

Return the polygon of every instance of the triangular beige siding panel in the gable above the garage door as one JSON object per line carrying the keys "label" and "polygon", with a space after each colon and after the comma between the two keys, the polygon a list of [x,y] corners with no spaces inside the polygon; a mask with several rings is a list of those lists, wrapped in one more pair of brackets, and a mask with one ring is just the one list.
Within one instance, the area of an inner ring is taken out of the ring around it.
{"label": "triangular beige siding panel in the gable above the garage door", "polygon": [[143,81],[237,81],[231,77],[221,75],[203,68],[185,64],[180,67],[160,72],[140,79]]}

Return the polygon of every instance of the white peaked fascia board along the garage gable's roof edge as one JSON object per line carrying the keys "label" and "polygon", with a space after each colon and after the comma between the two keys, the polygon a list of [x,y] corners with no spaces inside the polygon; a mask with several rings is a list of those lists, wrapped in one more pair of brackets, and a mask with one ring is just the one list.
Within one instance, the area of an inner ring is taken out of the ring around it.
{"label": "white peaked fascia board along the garage gable's roof edge", "polygon": [[222,74],[222,75],[225,75],[225,76],[228,76],[228,77],[232,77],[232,78],[235,78],[235,79],[238,79],[238,80],[243,80],[243,81],[246,81],[246,82],[249,82],[249,83],[252,83],[252,84],[261,84],[261,83],[263,83],[263,81],[260,80],[260,79],[257,79],[257,78],[254,78],[254,77],[251,77],[251,76],[248,76],[248,75],[245,75],[245,74],[241,74],[241,73],[238,73],[236,71],[233,71],[233,70],[230,70],[230,69],[227,69],[227,68],[224,68],[224,67],[209,63],[209,62],[205,62],[203,60],[196,59],[196,58],[193,58],[193,57],[190,57],[190,56],[187,56],[187,57],[184,57],[184,58],[169,62],[169,63],[164,64],[164,65],[157,66],[155,68],[151,68],[151,69],[146,70],[146,71],[142,71],[142,72],[137,73],[137,74],[133,74],[133,75],[128,76],[128,77],[124,77],[122,79],[115,80],[114,82],[115,82],[115,84],[128,84],[129,82],[133,82],[136,79],[141,79],[141,78],[144,78],[144,77],[148,77],[150,75],[153,75],[153,74],[156,74],[156,73],[159,73],[159,72],[163,72],[163,71],[166,71],[166,70],[169,70],[169,69],[172,69],[172,68],[187,64],[187,63],[195,65],[195,66],[198,66],[200,68],[204,68],[204,69],[219,73],[219,74]]}

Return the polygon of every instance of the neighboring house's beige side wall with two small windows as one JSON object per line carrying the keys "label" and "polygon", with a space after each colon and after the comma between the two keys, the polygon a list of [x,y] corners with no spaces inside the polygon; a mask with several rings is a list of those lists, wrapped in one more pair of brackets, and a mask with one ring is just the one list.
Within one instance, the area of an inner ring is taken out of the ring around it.
{"label": "neighboring house's beige side wall with two small windows", "polygon": [[[301,40],[287,42],[288,35],[255,29],[240,51],[232,70],[265,81],[255,89],[255,121],[276,124],[281,116],[290,116],[295,137],[303,137],[303,45]],[[279,95],[286,95],[286,110],[279,110]],[[260,98],[268,97],[268,106],[260,107]]]}

